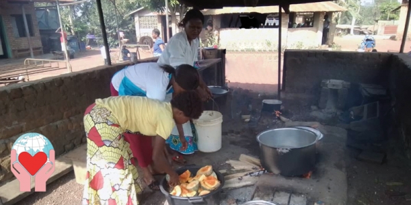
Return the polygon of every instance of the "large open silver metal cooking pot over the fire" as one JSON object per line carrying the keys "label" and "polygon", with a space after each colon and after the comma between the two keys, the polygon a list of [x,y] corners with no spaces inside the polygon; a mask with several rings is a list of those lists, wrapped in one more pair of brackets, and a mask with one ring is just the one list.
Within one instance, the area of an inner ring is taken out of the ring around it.
{"label": "large open silver metal cooking pot over the fire", "polygon": [[282,176],[301,176],[314,169],[316,133],[303,128],[277,128],[257,135],[261,165]]}

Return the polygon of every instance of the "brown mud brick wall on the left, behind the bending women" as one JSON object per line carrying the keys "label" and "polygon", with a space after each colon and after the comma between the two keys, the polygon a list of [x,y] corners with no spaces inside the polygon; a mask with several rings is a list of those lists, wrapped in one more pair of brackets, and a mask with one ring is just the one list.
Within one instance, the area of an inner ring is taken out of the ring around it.
{"label": "brown mud brick wall on the left, behind the bending women", "polygon": [[56,156],[84,143],[86,107],[96,98],[110,96],[112,75],[126,65],[99,66],[0,87],[0,184],[14,178],[10,172],[10,151],[23,133],[45,135]]}

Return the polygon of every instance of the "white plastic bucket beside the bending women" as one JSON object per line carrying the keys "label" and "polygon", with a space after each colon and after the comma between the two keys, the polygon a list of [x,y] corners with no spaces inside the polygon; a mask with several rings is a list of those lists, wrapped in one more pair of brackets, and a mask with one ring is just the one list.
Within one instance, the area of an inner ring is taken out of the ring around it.
{"label": "white plastic bucket beside the bending women", "polygon": [[200,152],[216,152],[221,149],[221,123],[223,115],[218,111],[203,111],[198,120],[193,121],[198,135]]}

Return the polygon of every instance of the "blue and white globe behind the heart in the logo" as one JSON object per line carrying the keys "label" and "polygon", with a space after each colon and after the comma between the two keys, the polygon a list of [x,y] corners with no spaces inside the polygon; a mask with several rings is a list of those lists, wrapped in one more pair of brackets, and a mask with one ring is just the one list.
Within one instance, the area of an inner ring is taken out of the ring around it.
{"label": "blue and white globe behind the heart in the logo", "polygon": [[21,135],[14,142],[12,149],[16,150],[16,161],[18,161],[18,155],[20,155],[21,152],[28,152],[32,156],[38,152],[45,152],[45,154],[47,154],[47,161],[50,161],[50,150],[54,150],[49,139],[38,133]]}

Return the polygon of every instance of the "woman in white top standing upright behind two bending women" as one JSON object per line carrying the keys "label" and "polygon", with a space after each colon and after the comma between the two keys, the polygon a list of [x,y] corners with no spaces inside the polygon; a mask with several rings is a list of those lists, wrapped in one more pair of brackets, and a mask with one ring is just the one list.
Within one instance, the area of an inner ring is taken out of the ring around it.
{"label": "woman in white top standing upright behind two bending women", "polygon": [[[199,35],[203,29],[204,16],[199,10],[189,10],[179,27],[184,30],[175,34],[164,49],[162,55],[158,59],[160,64],[168,64],[173,67],[181,64],[189,64],[195,66],[197,61],[198,49],[200,46]],[[196,66],[195,66],[196,67]],[[200,86],[197,89],[203,100],[208,100],[212,94],[208,89],[206,83],[200,78]],[[167,140],[170,148],[182,154],[192,154],[197,151],[197,132],[192,122],[183,124],[184,136],[188,141],[188,148],[182,150],[182,143],[180,142],[179,131],[177,127],[173,129],[171,136]],[[190,146],[192,145],[192,146]]]}

